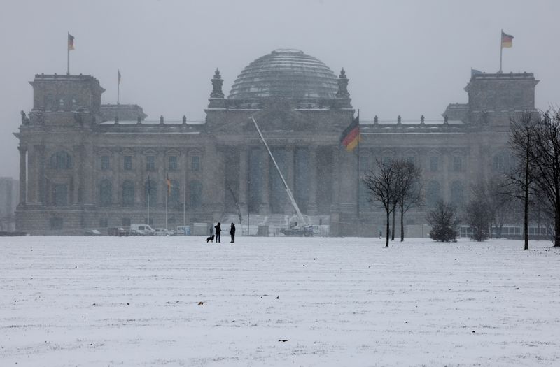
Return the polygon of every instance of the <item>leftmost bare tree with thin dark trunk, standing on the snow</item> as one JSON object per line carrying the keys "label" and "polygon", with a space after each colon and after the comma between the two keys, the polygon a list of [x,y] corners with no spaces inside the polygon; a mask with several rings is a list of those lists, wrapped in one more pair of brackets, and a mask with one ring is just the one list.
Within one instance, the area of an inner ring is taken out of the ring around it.
{"label": "leftmost bare tree with thin dark trunk, standing on the snow", "polygon": [[363,183],[369,194],[367,200],[370,203],[381,203],[386,214],[386,240],[385,247],[389,247],[389,218],[395,210],[400,199],[400,189],[397,185],[398,170],[394,162],[384,163],[376,159],[377,171],[370,170],[363,178]]}

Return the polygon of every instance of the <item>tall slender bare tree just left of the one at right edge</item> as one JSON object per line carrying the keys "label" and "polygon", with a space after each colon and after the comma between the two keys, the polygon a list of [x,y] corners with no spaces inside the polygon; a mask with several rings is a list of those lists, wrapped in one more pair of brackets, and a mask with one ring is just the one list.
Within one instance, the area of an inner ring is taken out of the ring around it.
{"label": "tall slender bare tree just left of the one at right edge", "polygon": [[[521,114],[517,117],[517,119],[512,119],[510,128],[510,147],[518,161],[517,166],[514,166],[509,174],[510,182],[512,184],[510,185],[510,187],[512,187],[510,192],[512,193],[512,196],[522,199],[524,203],[523,233],[525,250],[528,250],[529,248],[528,208],[531,188],[535,178],[534,173],[540,171],[537,169],[539,164],[536,164],[537,162],[533,162],[532,160],[536,156],[547,155],[539,154],[537,152],[539,141],[544,143],[544,141],[548,140],[548,138],[539,134],[539,131],[542,129],[538,127],[538,125],[540,125],[538,122],[538,116],[535,115],[535,113],[527,112]],[[550,132],[552,133],[552,131]],[[542,131],[542,133],[544,133],[544,131]],[[552,155],[554,155],[554,153]],[[544,168],[543,171],[548,170],[547,168]]]}

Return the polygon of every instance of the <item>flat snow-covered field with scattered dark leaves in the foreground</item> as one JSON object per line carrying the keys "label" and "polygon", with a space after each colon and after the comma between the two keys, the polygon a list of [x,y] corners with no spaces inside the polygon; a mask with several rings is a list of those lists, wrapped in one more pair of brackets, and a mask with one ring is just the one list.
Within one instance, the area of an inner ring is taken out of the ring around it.
{"label": "flat snow-covered field with scattered dark leaves in the foreground", "polygon": [[560,366],[547,241],[229,239],[0,238],[0,366]]}

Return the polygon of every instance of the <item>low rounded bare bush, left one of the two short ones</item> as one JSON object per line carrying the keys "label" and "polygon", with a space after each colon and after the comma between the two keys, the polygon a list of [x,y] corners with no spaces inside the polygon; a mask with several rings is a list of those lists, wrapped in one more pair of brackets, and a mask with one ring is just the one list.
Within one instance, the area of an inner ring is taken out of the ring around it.
{"label": "low rounded bare bush, left one of the two short ones", "polygon": [[453,204],[438,201],[435,208],[426,215],[426,220],[432,226],[431,239],[440,242],[456,240],[459,219],[457,209]]}

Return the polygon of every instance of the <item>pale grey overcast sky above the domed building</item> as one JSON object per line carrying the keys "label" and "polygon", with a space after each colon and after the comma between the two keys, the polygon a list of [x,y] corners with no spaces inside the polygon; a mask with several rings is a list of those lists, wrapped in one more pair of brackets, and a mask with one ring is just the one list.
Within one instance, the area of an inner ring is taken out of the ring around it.
{"label": "pale grey overcast sky above the domed building", "polygon": [[512,34],[503,71],[533,72],[537,108],[560,103],[560,1],[3,0],[0,13],[0,176],[18,178],[20,110],[36,73],[94,75],[116,103],[148,120],[204,120],[210,79],[224,92],[242,69],[276,48],[297,48],[350,79],[363,120],[440,119],[465,103],[470,68],[495,73],[500,29]]}

